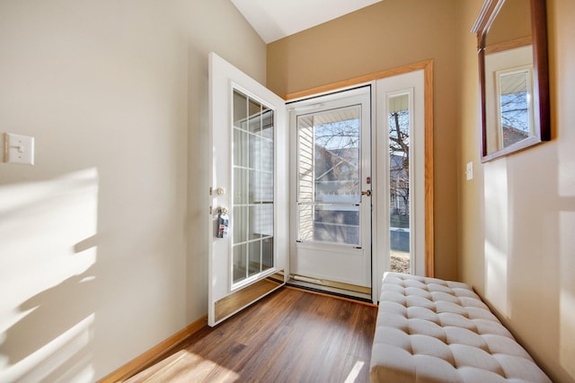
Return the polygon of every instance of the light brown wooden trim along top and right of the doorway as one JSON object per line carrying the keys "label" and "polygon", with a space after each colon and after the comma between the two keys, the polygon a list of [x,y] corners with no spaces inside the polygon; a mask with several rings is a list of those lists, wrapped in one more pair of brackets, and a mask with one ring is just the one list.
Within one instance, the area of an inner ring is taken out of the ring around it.
{"label": "light brown wooden trim along top and right of the doorway", "polygon": [[423,70],[425,105],[425,274],[435,276],[435,226],[434,226],[434,152],[433,152],[433,60],[420,61],[392,69],[354,77],[337,83],[321,85],[305,91],[286,94],[284,100],[296,100],[317,94],[349,88],[361,83],[375,82],[398,74]]}

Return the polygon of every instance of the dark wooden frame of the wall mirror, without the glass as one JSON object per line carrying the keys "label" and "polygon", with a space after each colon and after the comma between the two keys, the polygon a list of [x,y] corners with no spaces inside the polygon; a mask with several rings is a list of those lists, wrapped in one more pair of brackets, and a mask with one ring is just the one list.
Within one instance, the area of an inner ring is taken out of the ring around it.
{"label": "dark wooden frame of the wall mirror, without the glass", "polygon": [[[487,138],[487,96],[485,85],[485,48],[487,32],[494,22],[505,0],[485,0],[482,9],[473,24],[473,33],[477,36],[477,56],[479,59],[479,84],[481,92],[482,119],[482,162],[491,161],[522,151],[535,144],[551,140],[551,119],[549,109],[549,65],[547,58],[547,15],[545,0],[529,0],[531,13],[531,39],[533,45],[533,104],[535,110],[535,135],[529,136],[516,144],[488,152]],[[491,100],[493,102],[493,100]]]}

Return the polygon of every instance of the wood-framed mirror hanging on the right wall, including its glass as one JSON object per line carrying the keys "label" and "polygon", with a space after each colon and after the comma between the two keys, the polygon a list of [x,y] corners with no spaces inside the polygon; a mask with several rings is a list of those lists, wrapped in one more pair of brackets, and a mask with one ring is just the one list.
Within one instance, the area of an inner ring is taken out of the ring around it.
{"label": "wood-framed mirror hanging on the right wall, including its glass", "polygon": [[551,139],[545,0],[485,0],[477,35],[482,162]]}

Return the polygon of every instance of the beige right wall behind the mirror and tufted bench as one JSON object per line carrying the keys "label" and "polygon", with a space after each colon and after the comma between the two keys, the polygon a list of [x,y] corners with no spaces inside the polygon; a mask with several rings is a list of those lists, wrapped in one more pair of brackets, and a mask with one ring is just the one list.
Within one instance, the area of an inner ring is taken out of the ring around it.
{"label": "beige right wall behind the mirror and tufted bench", "polygon": [[482,0],[458,4],[460,274],[554,381],[574,382],[575,3],[547,0],[553,140],[483,165],[468,32]]}

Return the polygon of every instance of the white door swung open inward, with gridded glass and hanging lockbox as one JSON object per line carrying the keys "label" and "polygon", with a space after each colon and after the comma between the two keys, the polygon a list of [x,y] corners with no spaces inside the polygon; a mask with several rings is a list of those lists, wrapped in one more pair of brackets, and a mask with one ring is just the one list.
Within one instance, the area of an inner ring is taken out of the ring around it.
{"label": "white door swung open inward, with gridded glass and hanging lockbox", "polygon": [[286,281],[288,133],[284,100],[214,53],[209,92],[214,326]]}

